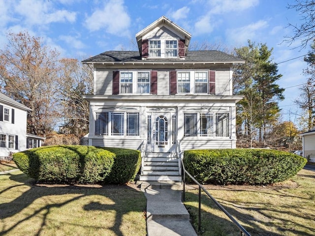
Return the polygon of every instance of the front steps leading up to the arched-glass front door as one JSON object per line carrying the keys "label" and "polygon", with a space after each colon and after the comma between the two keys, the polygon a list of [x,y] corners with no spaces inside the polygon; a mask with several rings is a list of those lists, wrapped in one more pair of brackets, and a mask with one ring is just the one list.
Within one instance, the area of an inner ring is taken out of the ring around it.
{"label": "front steps leading up to the arched-glass front door", "polygon": [[141,181],[182,181],[175,154],[146,153],[142,165]]}

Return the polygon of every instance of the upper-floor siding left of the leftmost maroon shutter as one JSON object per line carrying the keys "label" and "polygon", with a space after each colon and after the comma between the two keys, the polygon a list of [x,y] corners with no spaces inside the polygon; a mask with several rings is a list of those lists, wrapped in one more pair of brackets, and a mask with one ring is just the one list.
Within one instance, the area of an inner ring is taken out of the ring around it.
{"label": "upper-floor siding left of the leftmost maroon shutter", "polygon": [[112,95],[113,70],[97,69],[95,95]]}

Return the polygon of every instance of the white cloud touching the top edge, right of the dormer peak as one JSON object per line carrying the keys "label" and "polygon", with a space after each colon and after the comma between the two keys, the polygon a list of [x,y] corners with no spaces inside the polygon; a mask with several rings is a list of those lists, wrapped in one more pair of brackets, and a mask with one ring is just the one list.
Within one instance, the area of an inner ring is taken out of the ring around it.
{"label": "white cloud touching the top edge, right of the dormer peak", "polygon": [[210,13],[238,12],[258,5],[259,0],[209,0]]}

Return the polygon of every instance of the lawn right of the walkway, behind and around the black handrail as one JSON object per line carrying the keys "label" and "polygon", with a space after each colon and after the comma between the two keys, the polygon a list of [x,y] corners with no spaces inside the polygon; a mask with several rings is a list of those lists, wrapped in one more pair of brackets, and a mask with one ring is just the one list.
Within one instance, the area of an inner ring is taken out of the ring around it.
{"label": "lawn right of the walkway, behind and around the black handrail", "polygon": [[[302,169],[272,186],[205,185],[209,193],[252,236],[313,236],[315,171]],[[203,191],[202,191],[203,192]],[[202,236],[236,236],[240,231],[205,194],[201,203]],[[186,207],[198,229],[198,190],[186,192]]]}

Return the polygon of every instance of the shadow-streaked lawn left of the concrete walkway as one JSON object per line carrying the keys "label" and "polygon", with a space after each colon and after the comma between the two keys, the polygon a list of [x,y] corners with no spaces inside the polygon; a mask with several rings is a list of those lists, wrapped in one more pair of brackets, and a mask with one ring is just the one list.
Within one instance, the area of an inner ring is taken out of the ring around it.
{"label": "shadow-streaked lawn left of the concrete walkway", "polygon": [[130,186],[37,185],[21,171],[0,175],[0,235],[145,236],[146,198]]}

